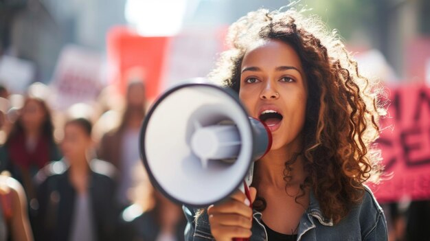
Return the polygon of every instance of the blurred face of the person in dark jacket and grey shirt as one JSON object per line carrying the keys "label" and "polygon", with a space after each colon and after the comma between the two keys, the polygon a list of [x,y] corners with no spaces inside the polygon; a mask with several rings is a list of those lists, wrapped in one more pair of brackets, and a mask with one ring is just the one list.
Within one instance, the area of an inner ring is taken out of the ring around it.
{"label": "blurred face of the person in dark jacket and grey shirt", "polygon": [[91,146],[91,137],[78,124],[67,124],[64,129],[64,139],[61,150],[66,159],[73,161],[85,157]]}

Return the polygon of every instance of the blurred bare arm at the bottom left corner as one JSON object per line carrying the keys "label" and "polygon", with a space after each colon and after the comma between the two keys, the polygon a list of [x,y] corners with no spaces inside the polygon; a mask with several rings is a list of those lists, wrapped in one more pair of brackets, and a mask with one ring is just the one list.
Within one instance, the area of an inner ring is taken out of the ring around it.
{"label": "blurred bare arm at the bottom left corner", "polygon": [[21,184],[9,178],[10,196],[12,198],[11,233],[14,241],[32,241],[33,234],[27,216],[27,200]]}

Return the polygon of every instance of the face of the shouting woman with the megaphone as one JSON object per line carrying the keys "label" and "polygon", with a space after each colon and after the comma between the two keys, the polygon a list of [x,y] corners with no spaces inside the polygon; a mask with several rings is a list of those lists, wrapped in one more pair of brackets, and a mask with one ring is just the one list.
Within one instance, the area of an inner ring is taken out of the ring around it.
{"label": "face of the shouting woman with the megaphone", "polygon": [[248,49],[240,71],[240,100],[252,117],[271,130],[271,150],[299,144],[308,94],[293,47],[278,40],[264,41]]}

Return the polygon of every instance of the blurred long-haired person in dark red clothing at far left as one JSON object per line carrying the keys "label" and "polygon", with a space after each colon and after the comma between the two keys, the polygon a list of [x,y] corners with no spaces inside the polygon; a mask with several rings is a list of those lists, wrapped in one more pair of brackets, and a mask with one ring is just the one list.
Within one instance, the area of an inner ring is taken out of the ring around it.
{"label": "blurred long-haired person in dark red clothing at far left", "polygon": [[25,99],[2,148],[8,170],[23,184],[27,198],[32,200],[36,196],[32,183],[34,175],[49,161],[60,159],[52,116],[44,100]]}

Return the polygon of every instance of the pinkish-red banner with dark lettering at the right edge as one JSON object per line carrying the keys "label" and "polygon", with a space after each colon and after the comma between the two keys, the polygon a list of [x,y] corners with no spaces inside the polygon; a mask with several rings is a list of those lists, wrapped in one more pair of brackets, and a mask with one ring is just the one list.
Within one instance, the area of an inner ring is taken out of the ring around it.
{"label": "pinkish-red banner with dark lettering at the right edge", "polygon": [[387,179],[373,188],[374,194],[380,202],[430,199],[430,88],[405,86],[389,92],[378,139]]}

